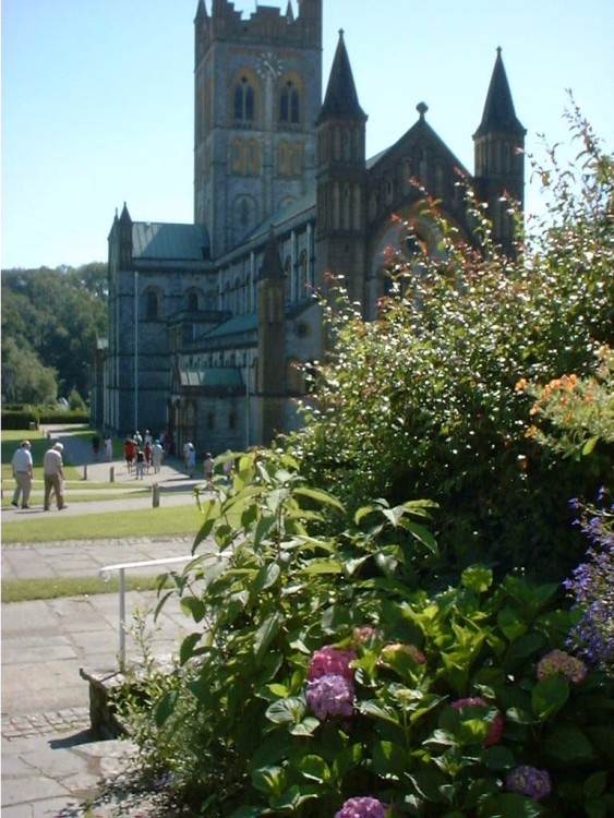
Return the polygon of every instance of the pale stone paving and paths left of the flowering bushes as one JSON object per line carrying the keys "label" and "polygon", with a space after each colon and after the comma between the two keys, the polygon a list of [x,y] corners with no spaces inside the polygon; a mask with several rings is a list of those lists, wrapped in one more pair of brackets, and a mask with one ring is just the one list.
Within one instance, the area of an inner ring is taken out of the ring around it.
{"label": "pale stone paving and paths left of the flowering bushes", "polygon": [[[68,430],[49,430],[64,443],[64,457],[76,466],[87,462],[88,479],[108,480],[109,464],[89,464],[87,447],[70,440]],[[116,464],[121,479],[125,466]],[[169,486],[160,504],[193,503],[192,485],[178,461],[167,462],[159,476]],[[128,479],[128,478],[125,478]],[[153,478],[151,478],[153,482]],[[171,488],[180,485],[181,490]],[[172,497],[172,500],[171,500]],[[75,502],[62,514],[100,514],[135,508],[139,500]],[[151,500],[146,501],[151,506]],[[113,506],[112,509],[109,506]],[[2,521],[27,519],[31,510],[3,509]],[[51,512],[50,515],[57,513]],[[104,565],[184,556],[192,538],[132,538],[87,542],[2,544],[2,578],[97,576]],[[141,569],[158,574],[164,568]],[[127,611],[135,605],[151,611],[153,593],[131,592]],[[157,623],[148,619],[154,653],[177,652],[183,633],[193,629],[174,602]],[[125,771],[134,757],[130,742],[93,742],[88,733],[88,685],[80,669],[118,667],[119,601],[115,593],[2,604],[2,806],[3,818],[115,818],[160,816],[155,794],[127,789]],[[130,633],[128,663],[141,652]],[[111,781],[111,790],[101,781]]]}

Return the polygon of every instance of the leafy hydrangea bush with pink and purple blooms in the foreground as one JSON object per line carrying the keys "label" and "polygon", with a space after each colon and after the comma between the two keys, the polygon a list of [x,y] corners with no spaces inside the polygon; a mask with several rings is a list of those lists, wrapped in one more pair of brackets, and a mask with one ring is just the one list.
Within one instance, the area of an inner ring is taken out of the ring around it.
{"label": "leafy hydrangea bush with pink and purple blooms in the foreground", "polygon": [[477,565],[426,592],[429,504],[348,524],[285,454],[241,457],[201,504],[194,561],[171,575],[193,633],[136,736],[184,808],[612,813],[612,679],[566,648],[577,617],[559,586]]}

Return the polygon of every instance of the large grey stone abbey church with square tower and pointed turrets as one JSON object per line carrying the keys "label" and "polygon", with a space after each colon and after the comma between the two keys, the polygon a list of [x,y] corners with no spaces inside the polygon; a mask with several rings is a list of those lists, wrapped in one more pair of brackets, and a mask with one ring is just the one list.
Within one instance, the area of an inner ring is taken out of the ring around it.
{"label": "large grey stone abbey church with square tower and pointed turrets", "polygon": [[116,214],[108,337],[92,392],[98,429],[169,430],[179,449],[191,441],[200,456],[268,445],[297,429],[303,365],[323,354],[314,292],[325,275],[345,277],[369,320],[385,292],[389,248],[408,261],[416,252],[405,225],[436,252],[412,179],[469,236],[460,170],[487,203],[495,240],[511,249],[499,197],[522,202],[526,131],[501,50],[490,85],[484,77],[473,172],[422,103],[409,130],[368,158],[368,115],[344,33],[324,84],[324,0],[297,2],[285,12],[257,4],[248,17],[229,0],[198,0],[194,222],[133,220],[129,203]]}

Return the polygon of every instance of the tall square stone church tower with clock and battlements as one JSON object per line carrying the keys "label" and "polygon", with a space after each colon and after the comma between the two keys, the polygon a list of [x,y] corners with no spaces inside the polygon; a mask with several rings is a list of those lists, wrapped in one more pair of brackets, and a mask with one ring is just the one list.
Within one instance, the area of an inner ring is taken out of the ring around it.
{"label": "tall square stone church tower with clock and battlements", "polygon": [[195,19],[194,221],[212,256],[232,250],[287,202],[310,193],[322,103],[322,0],[294,19],[200,0]]}

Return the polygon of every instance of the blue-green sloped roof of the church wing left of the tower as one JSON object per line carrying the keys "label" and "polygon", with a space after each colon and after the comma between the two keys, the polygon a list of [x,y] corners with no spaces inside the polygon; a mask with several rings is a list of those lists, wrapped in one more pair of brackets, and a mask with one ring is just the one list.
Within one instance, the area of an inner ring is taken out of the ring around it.
{"label": "blue-green sloped roof of the church wing left of the tower", "polygon": [[209,246],[209,237],[203,225],[132,224],[134,258],[203,261],[208,256]]}

